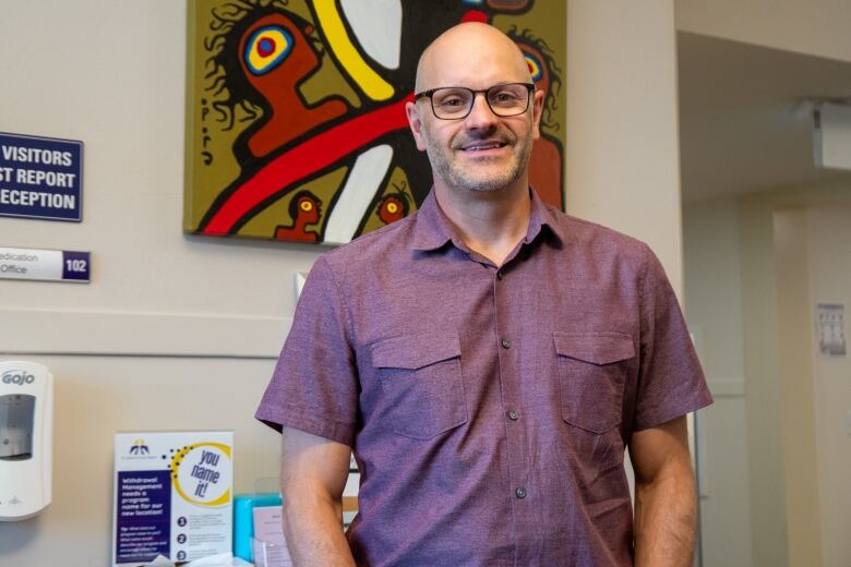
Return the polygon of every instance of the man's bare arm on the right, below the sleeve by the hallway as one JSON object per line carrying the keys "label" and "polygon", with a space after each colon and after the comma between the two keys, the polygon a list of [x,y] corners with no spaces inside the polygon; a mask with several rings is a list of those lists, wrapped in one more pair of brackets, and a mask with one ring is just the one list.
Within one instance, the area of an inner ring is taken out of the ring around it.
{"label": "man's bare arm on the right, below the sleeve by the hallway", "polygon": [[636,567],[692,565],[697,505],[685,417],[635,432],[630,458]]}

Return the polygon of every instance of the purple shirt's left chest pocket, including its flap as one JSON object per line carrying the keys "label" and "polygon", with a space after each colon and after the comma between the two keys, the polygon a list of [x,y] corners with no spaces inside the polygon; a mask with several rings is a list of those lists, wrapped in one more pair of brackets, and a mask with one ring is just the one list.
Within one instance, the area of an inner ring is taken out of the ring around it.
{"label": "purple shirt's left chest pocket, including its flap", "polygon": [[403,336],[372,347],[391,427],[430,439],[467,422],[457,334]]}

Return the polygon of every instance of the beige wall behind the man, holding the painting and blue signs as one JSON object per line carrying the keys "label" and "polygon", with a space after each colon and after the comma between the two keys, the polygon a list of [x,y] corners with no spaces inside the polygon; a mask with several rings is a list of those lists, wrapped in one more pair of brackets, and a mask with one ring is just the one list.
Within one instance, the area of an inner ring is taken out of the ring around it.
{"label": "beige wall behind the man, holding the painting and blue signs", "polygon": [[[650,242],[679,289],[672,1],[576,0],[568,17],[568,205]],[[0,243],[94,265],[85,286],[0,280],[0,352],[57,377],[53,504],[0,526],[0,565],[107,563],[119,430],[232,429],[237,491],[276,474],[251,414],[320,251],[181,234],[184,35],[172,0],[0,17],[2,130],[85,143],[84,221],[0,219]]]}

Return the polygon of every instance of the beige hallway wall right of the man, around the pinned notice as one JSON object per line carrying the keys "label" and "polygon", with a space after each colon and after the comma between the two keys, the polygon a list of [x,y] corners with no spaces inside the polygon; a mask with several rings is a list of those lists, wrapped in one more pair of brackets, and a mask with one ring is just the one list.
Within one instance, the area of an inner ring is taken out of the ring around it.
{"label": "beige hallway wall right of the man, around the pinned notice", "polygon": [[[707,567],[851,562],[851,367],[818,357],[814,333],[816,302],[848,301],[850,203],[851,180],[838,178],[685,208],[687,314],[716,395],[704,421]],[[740,504],[714,503],[727,498]],[[745,515],[750,557],[745,532],[728,533]]]}

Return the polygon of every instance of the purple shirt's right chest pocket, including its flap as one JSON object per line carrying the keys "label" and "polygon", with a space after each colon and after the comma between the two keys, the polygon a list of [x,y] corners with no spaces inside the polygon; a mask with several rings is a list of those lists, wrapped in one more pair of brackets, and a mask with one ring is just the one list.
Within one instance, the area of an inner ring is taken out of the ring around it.
{"label": "purple shirt's right chest pocket, including its flap", "polygon": [[594,433],[621,422],[627,361],[635,346],[621,333],[553,333],[562,418]]}

